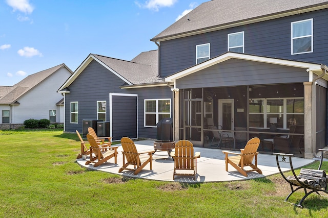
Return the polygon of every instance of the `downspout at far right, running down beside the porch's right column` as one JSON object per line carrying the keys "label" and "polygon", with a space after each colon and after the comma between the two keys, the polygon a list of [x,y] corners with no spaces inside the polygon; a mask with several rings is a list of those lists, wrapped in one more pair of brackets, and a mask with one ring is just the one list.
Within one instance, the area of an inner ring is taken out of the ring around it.
{"label": "downspout at far right, running down beside the porch's right column", "polygon": [[[320,158],[316,154],[316,81],[326,74],[326,67],[321,64],[322,74],[315,77],[312,82],[312,153],[315,158]],[[313,131],[314,130],[314,131]]]}

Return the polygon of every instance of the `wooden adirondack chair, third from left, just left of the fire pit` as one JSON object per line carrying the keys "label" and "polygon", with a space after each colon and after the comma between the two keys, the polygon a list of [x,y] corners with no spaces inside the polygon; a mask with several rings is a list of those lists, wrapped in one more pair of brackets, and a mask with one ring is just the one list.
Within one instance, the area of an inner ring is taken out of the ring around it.
{"label": "wooden adirondack chair, third from left, just left of the fire pit", "polygon": [[[118,173],[128,169],[134,171],[134,175],[137,175],[147,163],[150,163],[150,170],[152,170],[153,153],[155,150],[138,152],[134,142],[128,137],[122,137],[121,144],[123,148],[123,166],[118,170]],[[134,165],[134,168],[128,168],[129,165]]]}

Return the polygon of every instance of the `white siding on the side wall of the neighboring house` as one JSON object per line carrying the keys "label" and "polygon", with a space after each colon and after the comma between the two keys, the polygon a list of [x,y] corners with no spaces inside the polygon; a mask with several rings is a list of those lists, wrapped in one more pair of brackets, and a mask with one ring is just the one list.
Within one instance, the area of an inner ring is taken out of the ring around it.
{"label": "white siding on the side wall of the neighboring house", "polygon": [[49,119],[49,110],[56,110],[56,120],[64,122],[64,117],[58,117],[64,113],[60,113],[56,105],[64,97],[57,90],[70,75],[65,67],[60,68],[25,93],[18,99],[20,104],[12,106],[12,123],[23,124],[26,119]]}

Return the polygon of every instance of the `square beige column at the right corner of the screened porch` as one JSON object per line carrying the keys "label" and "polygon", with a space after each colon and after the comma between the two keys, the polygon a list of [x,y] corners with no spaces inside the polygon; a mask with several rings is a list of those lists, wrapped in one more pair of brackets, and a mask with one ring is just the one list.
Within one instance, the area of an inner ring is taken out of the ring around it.
{"label": "square beige column at the right corner of the screened porch", "polygon": [[312,82],[304,82],[304,158],[312,159]]}

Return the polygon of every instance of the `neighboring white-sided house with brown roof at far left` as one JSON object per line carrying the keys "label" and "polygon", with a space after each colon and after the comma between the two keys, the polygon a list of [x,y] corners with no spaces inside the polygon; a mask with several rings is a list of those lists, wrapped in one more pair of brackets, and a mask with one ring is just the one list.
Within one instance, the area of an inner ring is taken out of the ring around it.
{"label": "neighboring white-sided house with brown roof at far left", "polygon": [[60,64],[13,86],[0,86],[0,129],[21,127],[26,119],[64,123],[64,98],[57,90],[71,74],[65,64]]}

